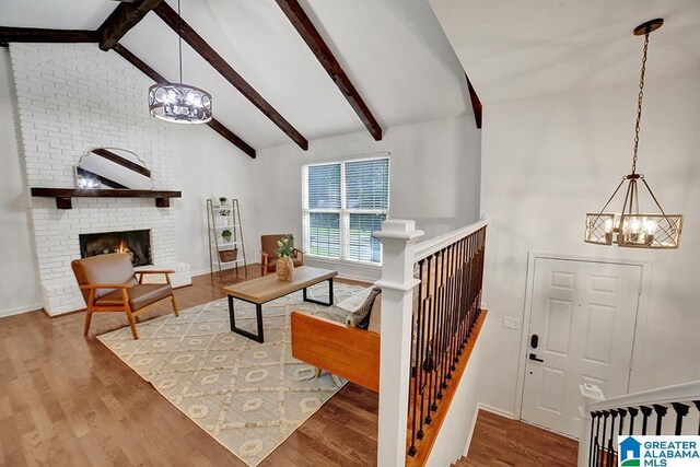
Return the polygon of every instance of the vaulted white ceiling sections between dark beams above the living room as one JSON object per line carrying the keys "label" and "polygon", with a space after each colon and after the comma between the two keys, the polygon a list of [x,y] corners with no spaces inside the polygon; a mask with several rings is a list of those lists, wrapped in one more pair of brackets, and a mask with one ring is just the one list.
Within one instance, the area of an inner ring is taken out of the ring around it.
{"label": "vaulted white ceiling sections between dark beams above the living room", "polygon": [[[425,0],[300,2],[384,131],[471,112],[464,70]],[[0,25],[95,30],[116,5],[0,0]],[[366,131],[273,0],[182,0],[182,13],[306,139]],[[177,81],[177,36],[155,13],[120,43]],[[217,119],[256,149],[291,141],[185,43],[183,54],[184,81],[211,92]]]}

